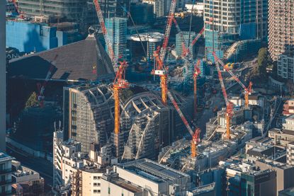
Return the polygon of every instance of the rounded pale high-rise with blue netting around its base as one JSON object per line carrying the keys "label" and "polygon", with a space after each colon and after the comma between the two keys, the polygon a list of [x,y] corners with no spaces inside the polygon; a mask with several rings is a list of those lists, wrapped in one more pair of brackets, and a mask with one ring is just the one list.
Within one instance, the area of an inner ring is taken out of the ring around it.
{"label": "rounded pale high-rise with blue netting around its base", "polygon": [[[205,0],[205,56],[213,61],[213,44],[217,56],[223,58],[235,42],[237,45],[234,47],[246,47],[248,43],[244,40],[266,40],[267,7],[264,0],[226,0],[221,3],[218,0]],[[213,18],[213,22],[210,18]]]}

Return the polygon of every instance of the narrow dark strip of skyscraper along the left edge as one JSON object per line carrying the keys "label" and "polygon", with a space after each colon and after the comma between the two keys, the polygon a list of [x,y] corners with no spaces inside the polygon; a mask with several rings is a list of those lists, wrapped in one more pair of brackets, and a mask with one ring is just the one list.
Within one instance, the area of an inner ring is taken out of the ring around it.
{"label": "narrow dark strip of skyscraper along the left edge", "polygon": [[0,1],[0,151],[5,151],[6,135],[6,52],[5,4]]}

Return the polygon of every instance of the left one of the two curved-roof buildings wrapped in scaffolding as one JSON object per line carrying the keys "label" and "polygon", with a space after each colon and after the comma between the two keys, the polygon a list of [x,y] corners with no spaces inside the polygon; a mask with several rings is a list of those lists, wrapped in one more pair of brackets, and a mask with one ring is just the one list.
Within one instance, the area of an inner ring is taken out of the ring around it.
{"label": "left one of the two curved-roof buildings wrapped in scaffolding", "polygon": [[103,146],[113,132],[111,89],[102,86],[64,88],[64,139],[81,142],[81,151],[88,153],[90,143]]}

